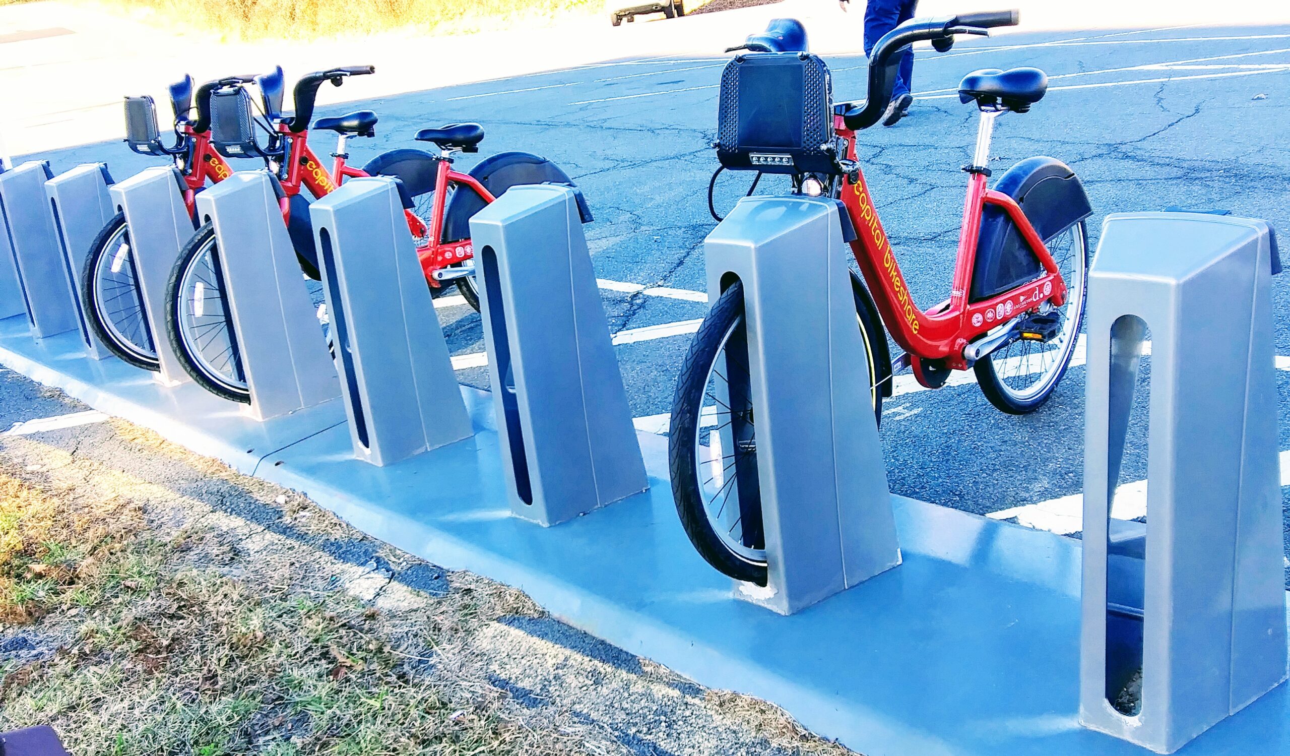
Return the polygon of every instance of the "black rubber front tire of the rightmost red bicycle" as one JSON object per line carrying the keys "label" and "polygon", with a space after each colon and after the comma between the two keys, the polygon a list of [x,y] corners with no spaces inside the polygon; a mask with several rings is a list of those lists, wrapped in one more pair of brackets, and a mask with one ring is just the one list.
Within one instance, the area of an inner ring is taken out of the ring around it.
{"label": "black rubber front tire of the rightmost red bicycle", "polygon": [[[851,274],[853,297],[857,307],[857,321],[860,326],[862,341],[867,350],[869,364],[869,396],[873,404],[875,418],[882,415],[882,383],[885,375],[890,374],[890,361],[888,370],[882,365],[886,350],[886,335],[881,326],[881,320],[873,308],[863,284]],[[698,440],[703,428],[703,405],[707,396],[707,386],[717,360],[721,359],[722,344],[729,343],[734,329],[740,328],[743,321],[743,285],[735,283],[726,289],[717,299],[712,310],[703,319],[699,330],[690,342],[690,348],[685,356],[681,374],[677,378],[676,392],[672,399],[672,415],[668,427],[668,472],[672,480],[672,498],[676,504],[681,526],[685,529],[690,543],[703,559],[719,572],[737,579],[765,586],[768,579],[768,565],[765,557],[756,559],[757,543],[746,544],[748,552],[739,553],[717,534],[708,513],[707,502],[703,498],[702,488],[710,481],[700,482],[703,472],[698,461]],[[734,414],[735,409],[729,414]],[[717,412],[720,417],[720,412]],[[747,422],[751,426],[751,422]],[[755,457],[755,452],[752,457]],[[738,466],[740,458],[738,452],[731,466]],[[756,463],[756,459],[747,459],[744,463]],[[721,457],[724,459],[725,457]],[[737,468],[731,475],[737,475]],[[743,471],[749,473],[747,470]],[[721,486],[722,489],[725,486]],[[720,493],[720,490],[717,492]],[[749,510],[756,510],[760,516],[760,502]],[[720,513],[719,513],[720,516]],[[743,533],[743,530],[740,530]],[[760,522],[752,529],[760,533]],[[764,550],[764,544],[761,544]]]}

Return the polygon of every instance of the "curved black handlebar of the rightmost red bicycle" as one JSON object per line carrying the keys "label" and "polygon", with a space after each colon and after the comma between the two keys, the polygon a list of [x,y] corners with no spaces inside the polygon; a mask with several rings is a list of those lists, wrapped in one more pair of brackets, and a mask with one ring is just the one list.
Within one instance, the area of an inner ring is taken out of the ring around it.
{"label": "curved black handlebar of the rightmost red bicycle", "polygon": [[951,18],[912,18],[902,23],[880,39],[869,53],[868,93],[864,101],[835,103],[833,114],[842,116],[848,129],[858,132],[872,126],[882,117],[882,111],[891,99],[900,68],[900,53],[907,46],[931,41],[937,52],[943,53],[953,44],[955,35],[989,35],[988,28],[1017,26],[1019,19],[1020,13],[1017,10],[992,10]]}

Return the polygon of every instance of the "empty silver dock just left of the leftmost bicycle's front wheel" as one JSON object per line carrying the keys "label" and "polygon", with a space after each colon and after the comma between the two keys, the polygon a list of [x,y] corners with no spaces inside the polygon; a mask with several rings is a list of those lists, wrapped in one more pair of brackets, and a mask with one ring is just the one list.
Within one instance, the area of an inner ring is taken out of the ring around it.
{"label": "empty silver dock just left of the leftmost bicycle's front wheel", "polygon": [[90,333],[85,320],[85,307],[93,307],[93,303],[81,302],[81,288],[77,281],[90,245],[99,230],[116,214],[108,192],[112,183],[106,163],[77,165],[45,182],[49,212],[58,232],[58,246],[72,289],[81,341],[85,342],[85,353],[92,360],[102,360],[111,356],[111,352]]}

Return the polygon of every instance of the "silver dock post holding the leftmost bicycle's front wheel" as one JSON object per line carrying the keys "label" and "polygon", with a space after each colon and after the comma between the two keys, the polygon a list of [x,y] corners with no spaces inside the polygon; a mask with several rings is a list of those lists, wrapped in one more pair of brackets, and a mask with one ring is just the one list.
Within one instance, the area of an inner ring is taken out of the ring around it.
{"label": "silver dock post holding the leftmost bicycle's front wheel", "polygon": [[125,214],[125,224],[130,230],[132,257],[137,268],[134,276],[160,363],[156,377],[165,386],[192,381],[165,339],[165,292],[170,270],[179,249],[196,230],[183,205],[182,184],[183,178],[177,169],[154,166],[108,190],[112,204]]}

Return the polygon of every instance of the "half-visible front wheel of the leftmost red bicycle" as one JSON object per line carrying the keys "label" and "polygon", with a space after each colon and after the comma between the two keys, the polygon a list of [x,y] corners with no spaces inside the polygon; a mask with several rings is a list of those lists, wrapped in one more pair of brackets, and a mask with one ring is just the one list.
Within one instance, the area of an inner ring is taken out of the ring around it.
{"label": "half-visible front wheel of the leftmost red bicycle", "polygon": [[129,365],[160,370],[124,213],[114,215],[98,232],[80,284],[86,320],[98,341]]}

